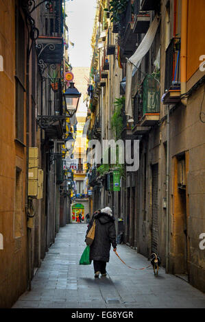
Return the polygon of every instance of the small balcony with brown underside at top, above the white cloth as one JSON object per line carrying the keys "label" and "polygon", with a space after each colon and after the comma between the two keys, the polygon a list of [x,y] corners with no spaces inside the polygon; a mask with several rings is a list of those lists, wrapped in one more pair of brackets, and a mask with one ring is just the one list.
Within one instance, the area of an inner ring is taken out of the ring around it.
{"label": "small balcony with brown underside at top, above the white cloth", "polygon": [[139,1],[134,2],[134,27],[133,32],[136,34],[146,34],[149,29],[150,14],[147,11],[140,10]]}

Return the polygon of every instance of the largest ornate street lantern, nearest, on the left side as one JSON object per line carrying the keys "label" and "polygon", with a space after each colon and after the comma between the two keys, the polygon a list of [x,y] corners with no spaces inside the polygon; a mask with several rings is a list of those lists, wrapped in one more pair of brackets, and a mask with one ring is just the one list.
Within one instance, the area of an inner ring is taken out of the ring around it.
{"label": "largest ornate street lantern, nearest, on the left side", "polygon": [[66,111],[70,117],[77,111],[77,106],[81,97],[81,93],[78,92],[74,84],[75,83],[70,82],[69,88],[67,88],[66,92],[63,93]]}

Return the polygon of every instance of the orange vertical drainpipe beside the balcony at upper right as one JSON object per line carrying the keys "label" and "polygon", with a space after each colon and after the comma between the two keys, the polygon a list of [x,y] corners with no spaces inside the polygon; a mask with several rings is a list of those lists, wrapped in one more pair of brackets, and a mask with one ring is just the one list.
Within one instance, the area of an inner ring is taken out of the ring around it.
{"label": "orange vertical drainpipe beside the balcony at upper right", "polygon": [[[187,14],[188,0],[182,0],[181,14],[181,95],[186,93],[186,63],[187,63]],[[187,98],[181,99],[184,106],[187,104]]]}

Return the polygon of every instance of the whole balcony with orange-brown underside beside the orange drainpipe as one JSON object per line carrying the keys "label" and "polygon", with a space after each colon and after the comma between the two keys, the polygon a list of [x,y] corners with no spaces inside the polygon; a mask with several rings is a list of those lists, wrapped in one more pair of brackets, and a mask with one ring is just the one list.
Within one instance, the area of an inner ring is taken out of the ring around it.
{"label": "whole balcony with orange-brown underside beside the orange drainpipe", "polygon": [[172,38],[166,50],[164,104],[180,101],[180,38]]}

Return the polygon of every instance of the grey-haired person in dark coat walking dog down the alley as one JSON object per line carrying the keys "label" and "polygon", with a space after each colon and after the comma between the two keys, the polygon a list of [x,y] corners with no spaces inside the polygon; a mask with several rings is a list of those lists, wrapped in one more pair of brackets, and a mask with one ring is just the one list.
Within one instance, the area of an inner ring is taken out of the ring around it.
{"label": "grey-haired person in dark coat walking dog down the alley", "polygon": [[90,260],[93,260],[95,277],[106,276],[106,264],[110,260],[110,247],[116,251],[116,231],[114,225],[114,216],[110,207],[103,208],[94,213],[91,222],[88,225],[89,230],[95,220],[95,238],[91,245]]}

